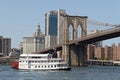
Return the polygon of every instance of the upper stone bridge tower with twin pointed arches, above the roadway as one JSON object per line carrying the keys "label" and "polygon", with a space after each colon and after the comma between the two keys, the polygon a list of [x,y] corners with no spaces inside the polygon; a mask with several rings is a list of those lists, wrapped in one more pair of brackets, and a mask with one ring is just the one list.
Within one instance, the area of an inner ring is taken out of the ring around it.
{"label": "upper stone bridge tower with twin pointed arches, above the roadway", "polygon": [[63,43],[68,43],[70,40],[69,28],[73,27],[72,37],[73,40],[77,39],[79,29],[81,29],[81,37],[87,34],[87,16],[64,16],[64,41]]}

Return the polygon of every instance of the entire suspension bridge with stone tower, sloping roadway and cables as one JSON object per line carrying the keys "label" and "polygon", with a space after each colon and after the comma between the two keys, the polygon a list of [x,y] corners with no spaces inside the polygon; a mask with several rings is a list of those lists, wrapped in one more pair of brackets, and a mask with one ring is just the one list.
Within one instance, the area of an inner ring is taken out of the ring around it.
{"label": "entire suspension bridge with stone tower, sloping roadway and cables", "polygon": [[[88,34],[88,28],[92,27],[88,24],[107,27],[99,32]],[[39,53],[59,53],[60,57],[72,66],[82,66],[87,61],[87,45],[98,41],[112,39],[120,36],[120,25],[112,25],[101,23],[88,19],[87,16],[70,16],[65,15],[61,23],[64,25],[63,40],[61,43],[44,49]],[[72,26],[72,32],[70,27]],[[81,33],[78,31],[81,28]],[[79,34],[78,34],[79,33]]]}

